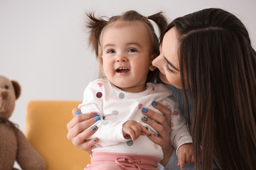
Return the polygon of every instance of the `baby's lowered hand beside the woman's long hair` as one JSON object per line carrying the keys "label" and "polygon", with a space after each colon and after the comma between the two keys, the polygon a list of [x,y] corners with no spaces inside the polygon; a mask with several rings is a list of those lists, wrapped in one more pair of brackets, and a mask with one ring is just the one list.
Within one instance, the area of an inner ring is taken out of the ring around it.
{"label": "baby's lowered hand beside the woman's long hair", "polygon": [[185,162],[195,162],[192,143],[186,143],[178,147],[178,166],[184,169]]}

